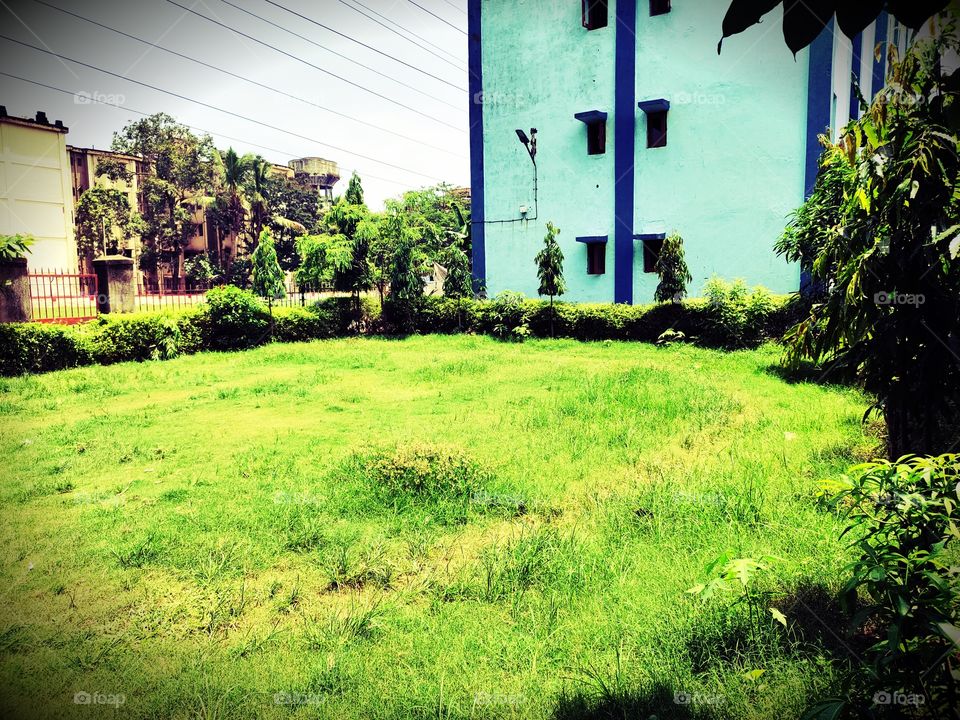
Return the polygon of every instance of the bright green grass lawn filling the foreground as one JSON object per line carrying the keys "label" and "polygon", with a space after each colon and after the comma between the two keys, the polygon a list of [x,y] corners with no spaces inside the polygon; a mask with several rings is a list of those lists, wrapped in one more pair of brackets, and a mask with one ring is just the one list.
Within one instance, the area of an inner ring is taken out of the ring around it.
{"label": "bright green grass lawn filling the foreground", "polygon": [[[806,612],[850,559],[817,482],[877,441],[777,359],[417,337],[2,380],[0,714],[796,717],[846,661]],[[387,494],[418,445],[473,484]],[[770,556],[788,629],[686,592],[725,551]]]}

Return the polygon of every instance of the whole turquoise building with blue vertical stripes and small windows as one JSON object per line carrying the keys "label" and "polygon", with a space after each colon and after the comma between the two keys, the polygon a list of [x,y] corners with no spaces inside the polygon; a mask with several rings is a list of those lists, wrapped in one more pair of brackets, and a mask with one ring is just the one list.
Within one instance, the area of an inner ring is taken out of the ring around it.
{"label": "whole turquoise building with blue vertical stripes and small windows", "polygon": [[874,47],[905,34],[882,15],[794,58],[778,9],[718,55],[727,5],[470,0],[473,261],[489,295],[536,295],[547,221],[567,300],[652,302],[673,232],[691,295],[712,276],[798,289],[773,245],[812,188],[818,135],[859,112],[851,73],[867,97],[881,87]]}

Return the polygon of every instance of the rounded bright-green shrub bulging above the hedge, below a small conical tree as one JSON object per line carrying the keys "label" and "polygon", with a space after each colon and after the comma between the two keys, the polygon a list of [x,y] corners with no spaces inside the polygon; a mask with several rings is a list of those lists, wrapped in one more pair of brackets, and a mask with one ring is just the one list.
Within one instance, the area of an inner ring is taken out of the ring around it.
{"label": "rounded bright-green shrub bulging above the hedge, below a small conical tree", "polygon": [[242,350],[270,339],[270,316],[251,293],[232,285],[207,293],[207,337],[213,350]]}

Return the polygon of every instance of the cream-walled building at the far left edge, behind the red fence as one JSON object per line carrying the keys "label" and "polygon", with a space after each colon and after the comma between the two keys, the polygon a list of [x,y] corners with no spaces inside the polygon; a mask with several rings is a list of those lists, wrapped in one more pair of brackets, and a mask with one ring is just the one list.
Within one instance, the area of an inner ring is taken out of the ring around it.
{"label": "cream-walled building at the far left edge, behind the red fence", "polygon": [[10,117],[0,106],[0,234],[30,235],[28,266],[76,272],[67,128],[38,112]]}

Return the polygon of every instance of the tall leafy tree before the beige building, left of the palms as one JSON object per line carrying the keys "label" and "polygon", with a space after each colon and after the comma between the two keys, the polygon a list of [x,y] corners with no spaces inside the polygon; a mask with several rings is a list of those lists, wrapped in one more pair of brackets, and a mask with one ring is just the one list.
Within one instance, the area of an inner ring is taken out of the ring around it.
{"label": "tall leafy tree before the beige building, left of the palms", "polygon": [[183,249],[196,232],[194,213],[213,188],[213,141],[157,113],[114,133],[112,148],[140,155],[145,166],[139,183],[145,223],[141,269],[155,273],[166,264],[176,286]]}

